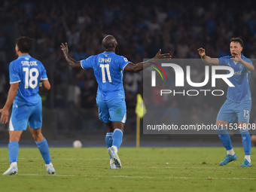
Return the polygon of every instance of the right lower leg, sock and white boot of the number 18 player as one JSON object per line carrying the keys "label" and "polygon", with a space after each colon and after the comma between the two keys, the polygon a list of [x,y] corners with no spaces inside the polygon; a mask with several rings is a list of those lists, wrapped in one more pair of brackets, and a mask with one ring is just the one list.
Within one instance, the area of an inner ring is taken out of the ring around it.
{"label": "right lower leg, sock and white boot of the number 18 player", "polygon": [[44,159],[47,173],[55,174],[53,163],[51,163],[51,160],[50,160],[50,151],[49,151],[48,143],[47,143],[47,140],[44,138],[44,136],[41,134],[41,128],[32,129],[31,127],[29,127],[29,130],[33,138],[35,139],[36,145],[38,145],[38,149],[41,153],[41,156]]}

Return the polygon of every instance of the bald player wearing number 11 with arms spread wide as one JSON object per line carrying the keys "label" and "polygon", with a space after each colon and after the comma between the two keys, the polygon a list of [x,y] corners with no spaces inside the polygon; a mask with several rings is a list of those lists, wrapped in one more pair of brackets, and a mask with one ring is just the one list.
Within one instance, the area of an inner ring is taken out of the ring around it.
{"label": "bald player wearing number 11 with arms spread wide", "polygon": [[[68,44],[62,44],[63,54],[66,61],[73,69],[93,69],[98,90],[96,104],[99,110],[99,119],[105,123],[107,135],[105,142],[110,155],[110,168],[119,169],[121,167],[117,151],[123,139],[123,126],[126,122],[126,103],[123,90],[123,71],[140,72],[151,66],[149,62],[139,62],[133,64],[125,57],[116,54],[117,41],[112,35],[107,35],[102,40],[105,52],[95,56],[90,56],[81,61],[75,61],[69,56]],[[153,59],[170,59],[169,53],[160,54],[161,50]]]}

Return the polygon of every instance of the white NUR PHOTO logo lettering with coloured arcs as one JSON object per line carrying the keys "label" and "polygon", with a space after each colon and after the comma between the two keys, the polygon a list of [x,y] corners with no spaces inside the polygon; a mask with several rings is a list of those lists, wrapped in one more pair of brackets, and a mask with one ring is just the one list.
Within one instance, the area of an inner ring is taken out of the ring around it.
{"label": "white NUR PHOTO logo lettering with coloured arcs", "polygon": [[[154,66],[157,66],[163,74],[166,76],[166,72],[164,71],[163,68],[166,69],[166,67],[172,68],[175,72],[175,87],[184,87],[184,80],[187,81],[187,84],[190,85],[191,87],[197,87],[195,89],[190,89],[190,90],[168,90],[168,89],[161,89],[160,90],[160,96],[163,96],[163,94],[172,94],[173,96],[176,95],[187,95],[187,96],[198,96],[200,93],[203,93],[204,96],[207,95],[207,93],[211,93],[212,96],[223,96],[224,95],[224,90],[206,90],[206,89],[199,89],[198,87],[204,87],[206,84],[209,82],[209,76],[210,76],[210,70],[209,67],[212,68],[212,87],[216,87],[216,79],[222,79],[229,87],[235,87],[228,78],[231,78],[234,74],[234,70],[230,66],[205,66],[205,79],[203,82],[196,83],[191,81],[191,75],[190,75],[190,66],[186,66],[186,75],[184,75],[184,70],[179,66],[178,64],[175,63],[161,63],[161,66],[158,65],[157,63],[153,63]],[[156,67],[151,66],[151,68],[155,69],[161,76],[163,80],[163,75],[157,69]],[[156,71],[151,71],[151,87],[156,87]],[[217,74],[217,71],[227,71],[227,74]]]}

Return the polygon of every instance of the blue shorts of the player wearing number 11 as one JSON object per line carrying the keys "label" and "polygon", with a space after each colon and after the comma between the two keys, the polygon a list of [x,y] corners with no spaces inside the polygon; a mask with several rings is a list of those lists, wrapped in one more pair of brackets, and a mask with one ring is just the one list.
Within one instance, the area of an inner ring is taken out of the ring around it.
{"label": "blue shorts of the player wearing number 11", "polygon": [[124,99],[114,99],[111,101],[96,101],[99,111],[99,120],[104,123],[112,121],[126,122],[126,103]]}

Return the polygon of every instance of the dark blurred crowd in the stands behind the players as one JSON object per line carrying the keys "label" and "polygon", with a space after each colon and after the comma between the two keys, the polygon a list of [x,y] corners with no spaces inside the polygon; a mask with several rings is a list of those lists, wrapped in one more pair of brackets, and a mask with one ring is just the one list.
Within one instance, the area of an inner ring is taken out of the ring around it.
{"label": "dark blurred crowd in the stands behind the players", "polygon": [[[16,59],[15,42],[22,35],[33,39],[31,55],[41,60],[47,69],[53,89],[44,96],[47,108],[72,106],[96,108],[97,84],[92,70],[72,70],[62,56],[59,45],[68,42],[69,53],[76,59],[102,53],[102,38],[111,34],[117,38],[120,55],[133,63],[154,57],[161,48],[172,58],[200,59],[199,47],[206,55],[220,57],[230,54],[229,40],[244,41],[242,53],[256,57],[256,11],[254,2],[231,4],[230,1],[2,1],[0,5],[0,108],[8,92],[8,64]],[[204,67],[194,66],[194,77]],[[251,94],[256,109],[256,72],[251,73]],[[125,73],[127,108],[136,106],[136,94],[142,93],[142,72]],[[171,87],[172,85],[170,85]],[[221,83],[219,89],[227,89]],[[212,97],[198,97],[190,106],[176,97],[168,106],[177,109],[218,109]],[[165,100],[163,99],[163,102]],[[90,114],[88,114],[90,116]],[[256,117],[256,115],[254,115]]]}

